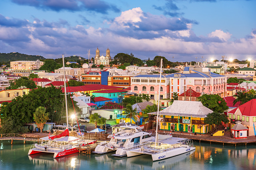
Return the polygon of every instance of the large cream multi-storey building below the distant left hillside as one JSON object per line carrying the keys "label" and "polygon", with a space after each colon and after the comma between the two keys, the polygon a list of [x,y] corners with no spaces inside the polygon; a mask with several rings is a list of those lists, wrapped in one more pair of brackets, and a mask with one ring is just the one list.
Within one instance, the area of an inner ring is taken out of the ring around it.
{"label": "large cream multi-storey building below the distant left hillside", "polygon": [[43,64],[44,64],[44,62],[42,62],[40,60],[36,60],[36,61],[11,61],[10,62],[10,67],[11,67],[11,70],[13,70],[14,72],[19,71],[19,70],[28,72],[30,70],[39,69]]}

